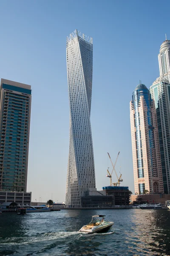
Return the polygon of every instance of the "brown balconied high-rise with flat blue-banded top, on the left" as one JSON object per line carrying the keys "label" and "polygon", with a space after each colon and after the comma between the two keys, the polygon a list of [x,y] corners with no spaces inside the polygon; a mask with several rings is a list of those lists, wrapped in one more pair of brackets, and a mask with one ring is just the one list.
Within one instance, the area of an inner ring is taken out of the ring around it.
{"label": "brown balconied high-rise with flat blue-banded top, on the left", "polygon": [[0,84],[0,190],[25,191],[31,115],[31,86]]}

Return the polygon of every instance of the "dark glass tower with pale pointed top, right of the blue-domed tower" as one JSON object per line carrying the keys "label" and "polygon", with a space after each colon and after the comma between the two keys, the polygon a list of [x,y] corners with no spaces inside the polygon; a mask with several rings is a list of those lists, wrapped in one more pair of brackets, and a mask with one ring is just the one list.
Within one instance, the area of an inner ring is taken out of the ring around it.
{"label": "dark glass tower with pale pointed top, right of the blue-domed tower", "polygon": [[150,87],[158,123],[164,193],[170,194],[170,83],[160,76]]}

